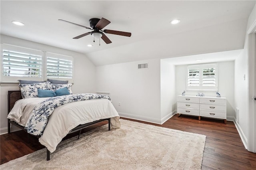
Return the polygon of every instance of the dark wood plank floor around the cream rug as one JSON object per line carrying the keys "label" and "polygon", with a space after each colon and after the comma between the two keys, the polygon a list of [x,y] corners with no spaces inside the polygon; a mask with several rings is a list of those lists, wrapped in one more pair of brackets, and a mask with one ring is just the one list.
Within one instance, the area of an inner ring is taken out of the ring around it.
{"label": "dark wood plank floor around the cream rug", "polygon": [[[132,119],[128,120],[135,121]],[[142,121],[138,122],[146,123]],[[107,122],[102,122],[98,125],[93,125],[84,129],[83,132],[106,123]],[[147,124],[156,125],[153,123]],[[224,124],[222,120],[217,119],[202,118],[201,121],[199,121],[198,117],[186,115],[178,117],[177,115],[174,115],[163,125],[156,126],[206,135],[202,170],[256,169],[256,154],[248,152],[244,148],[233,122],[227,121],[227,124]],[[68,134],[64,139],[75,135],[77,135],[77,133]],[[44,146],[40,145],[37,138],[33,136],[27,138],[26,133],[22,130],[12,132],[11,134],[0,135],[0,144],[1,164],[44,148]]]}

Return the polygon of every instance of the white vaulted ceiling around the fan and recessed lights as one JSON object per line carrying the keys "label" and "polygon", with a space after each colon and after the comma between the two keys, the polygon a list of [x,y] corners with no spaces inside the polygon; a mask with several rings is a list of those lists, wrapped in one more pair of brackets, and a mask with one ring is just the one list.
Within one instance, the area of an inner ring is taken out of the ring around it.
{"label": "white vaulted ceiling around the fan and recessed lights", "polygon": [[[84,53],[95,65],[242,49],[255,1],[0,1],[1,34]],[[93,42],[91,18],[106,18],[110,44]],[[180,19],[176,25],[173,19]],[[12,24],[13,20],[25,26]],[[90,31],[90,30],[89,30]],[[92,44],[92,47],[88,47]]]}

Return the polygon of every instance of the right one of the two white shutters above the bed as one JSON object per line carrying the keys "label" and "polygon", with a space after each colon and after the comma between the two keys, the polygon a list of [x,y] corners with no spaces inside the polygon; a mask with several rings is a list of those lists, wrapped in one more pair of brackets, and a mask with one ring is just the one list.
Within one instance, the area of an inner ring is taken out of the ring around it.
{"label": "right one of the two white shutters above the bed", "polygon": [[73,79],[73,57],[47,52],[46,78]]}

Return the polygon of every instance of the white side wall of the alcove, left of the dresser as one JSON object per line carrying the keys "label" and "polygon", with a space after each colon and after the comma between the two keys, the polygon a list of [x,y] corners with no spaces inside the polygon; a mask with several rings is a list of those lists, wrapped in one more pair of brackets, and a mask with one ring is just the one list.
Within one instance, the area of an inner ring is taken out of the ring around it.
{"label": "white side wall of the alcove, left of the dresser", "polygon": [[176,113],[175,65],[164,60],[161,65],[161,123]]}

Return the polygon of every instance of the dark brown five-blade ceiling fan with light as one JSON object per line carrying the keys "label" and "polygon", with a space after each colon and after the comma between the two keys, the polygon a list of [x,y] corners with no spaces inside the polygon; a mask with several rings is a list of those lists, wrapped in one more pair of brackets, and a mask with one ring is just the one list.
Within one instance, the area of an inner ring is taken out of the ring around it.
{"label": "dark brown five-blade ceiling fan with light", "polygon": [[[86,28],[86,29],[89,29],[89,30],[93,30],[92,32],[87,32],[87,33],[82,34],[80,36],[76,36],[73,39],[82,38],[84,36],[87,36],[87,35],[91,34],[94,39],[95,38],[97,38],[97,39],[102,38],[102,40],[105,43],[108,44],[108,43],[112,43],[112,42],[108,39],[108,37],[104,33],[115,34],[115,35],[126,36],[126,37],[130,37],[132,35],[132,33],[130,33],[130,32],[122,32],[122,31],[114,31],[114,30],[103,30],[102,31],[102,29],[104,27],[106,27],[108,24],[110,24],[110,21],[106,20],[105,18],[101,18],[101,19],[92,18],[92,19],[90,19],[89,22],[90,22],[90,27],[91,28],[86,27],[86,26],[81,26],[79,24],[75,24],[75,23],[68,22],[68,21],[65,21],[65,20],[59,20],[59,21],[67,22],[69,24],[74,24],[76,26],[80,26],[80,27],[83,27],[83,28]],[[93,41],[93,42],[95,42],[95,41]]]}

